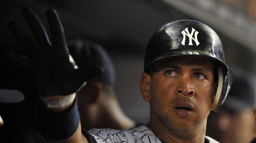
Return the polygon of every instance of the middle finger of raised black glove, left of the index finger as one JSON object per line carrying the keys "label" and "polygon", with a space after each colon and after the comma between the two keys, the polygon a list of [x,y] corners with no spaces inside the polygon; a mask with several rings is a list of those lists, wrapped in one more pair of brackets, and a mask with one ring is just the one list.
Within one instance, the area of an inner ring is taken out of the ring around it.
{"label": "middle finger of raised black glove, left of the index finger", "polygon": [[37,14],[30,8],[23,8],[22,14],[28,22],[31,30],[33,31],[39,45],[49,46],[51,42],[49,41],[44,25],[42,24]]}

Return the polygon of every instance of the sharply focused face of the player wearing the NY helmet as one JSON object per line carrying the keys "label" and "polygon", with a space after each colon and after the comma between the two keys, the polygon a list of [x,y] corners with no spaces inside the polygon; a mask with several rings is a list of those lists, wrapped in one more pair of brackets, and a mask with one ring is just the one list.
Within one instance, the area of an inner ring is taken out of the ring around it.
{"label": "sharply focused face of the player wearing the NY helmet", "polygon": [[151,116],[174,134],[205,128],[214,95],[212,60],[175,56],[154,67],[158,70],[150,76]]}

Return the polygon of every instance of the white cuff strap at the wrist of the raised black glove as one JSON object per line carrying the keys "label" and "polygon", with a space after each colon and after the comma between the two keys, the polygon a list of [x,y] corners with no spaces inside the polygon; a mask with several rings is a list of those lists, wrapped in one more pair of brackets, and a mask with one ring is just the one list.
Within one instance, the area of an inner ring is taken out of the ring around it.
{"label": "white cuff strap at the wrist of the raised black glove", "polygon": [[65,109],[68,105],[72,104],[75,99],[75,93],[70,95],[55,95],[55,96],[41,96],[40,99],[47,108],[50,109]]}

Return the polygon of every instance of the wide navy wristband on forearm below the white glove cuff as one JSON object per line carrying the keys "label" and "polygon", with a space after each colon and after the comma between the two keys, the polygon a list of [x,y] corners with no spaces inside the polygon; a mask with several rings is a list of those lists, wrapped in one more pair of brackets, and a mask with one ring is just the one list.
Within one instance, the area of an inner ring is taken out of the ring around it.
{"label": "wide navy wristband on forearm below the white glove cuff", "polygon": [[37,130],[48,140],[58,141],[69,138],[74,134],[80,122],[76,98],[72,105],[63,112],[51,112],[43,107],[39,100],[36,111]]}

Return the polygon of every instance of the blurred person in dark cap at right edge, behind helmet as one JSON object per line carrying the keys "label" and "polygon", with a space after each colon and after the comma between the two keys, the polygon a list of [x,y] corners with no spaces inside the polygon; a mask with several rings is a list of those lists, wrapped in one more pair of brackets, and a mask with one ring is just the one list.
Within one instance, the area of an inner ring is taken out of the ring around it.
{"label": "blurred person in dark cap at right edge, behind helmet", "polygon": [[255,79],[241,68],[229,71],[229,95],[220,112],[209,115],[206,134],[221,143],[250,143],[256,135]]}

